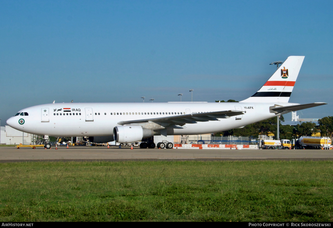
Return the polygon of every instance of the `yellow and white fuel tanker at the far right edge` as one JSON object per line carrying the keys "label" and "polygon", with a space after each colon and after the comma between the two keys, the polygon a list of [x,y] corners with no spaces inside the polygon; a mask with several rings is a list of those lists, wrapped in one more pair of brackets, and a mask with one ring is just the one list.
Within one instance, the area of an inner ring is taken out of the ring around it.
{"label": "yellow and white fuel tanker at the far right edge", "polygon": [[301,136],[292,140],[292,147],[295,149],[326,149],[329,150],[332,141],[329,137]]}

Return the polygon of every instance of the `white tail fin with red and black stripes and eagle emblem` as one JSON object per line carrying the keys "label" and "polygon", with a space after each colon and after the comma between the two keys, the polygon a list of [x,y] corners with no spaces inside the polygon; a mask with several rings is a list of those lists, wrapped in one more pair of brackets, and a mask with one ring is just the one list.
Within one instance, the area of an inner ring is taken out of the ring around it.
{"label": "white tail fin with red and black stripes and eagle emblem", "polygon": [[266,83],[240,102],[288,102],[304,56],[289,56]]}

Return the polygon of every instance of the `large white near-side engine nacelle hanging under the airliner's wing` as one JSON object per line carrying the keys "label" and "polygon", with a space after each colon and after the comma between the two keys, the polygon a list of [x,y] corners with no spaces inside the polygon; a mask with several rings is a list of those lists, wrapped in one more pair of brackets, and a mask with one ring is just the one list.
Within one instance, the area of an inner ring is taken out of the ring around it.
{"label": "large white near-side engine nacelle hanging under the airliner's wing", "polygon": [[153,130],[141,126],[125,125],[113,129],[113,138],[117,143],[134,143],[153,135]]}

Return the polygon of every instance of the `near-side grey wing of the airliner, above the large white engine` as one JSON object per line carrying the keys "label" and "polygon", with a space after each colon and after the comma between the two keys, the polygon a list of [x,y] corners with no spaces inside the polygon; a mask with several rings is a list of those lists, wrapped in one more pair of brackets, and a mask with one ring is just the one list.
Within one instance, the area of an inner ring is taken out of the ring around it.
{"label": "near-side grey wing of the airliner, above the large white engine", "polygon": [[163,122],[170,124],[194,124],[196,122],[206,122],[210,120],[218,120],[217,118],[230,118],[230,116],[242,115],[244,112],[239,110],[228,110],[228,111],[218,111],[218,112],[203,112],[196,113],[192,112],[191,114],[170,116],[170,117],[160,117],[160,118],[150,118],[142,120],[129,120],[129,121],[120,121],[119,125],[124,124],[134,124],[134,123],[144,123],[148,121],[152,122]]}

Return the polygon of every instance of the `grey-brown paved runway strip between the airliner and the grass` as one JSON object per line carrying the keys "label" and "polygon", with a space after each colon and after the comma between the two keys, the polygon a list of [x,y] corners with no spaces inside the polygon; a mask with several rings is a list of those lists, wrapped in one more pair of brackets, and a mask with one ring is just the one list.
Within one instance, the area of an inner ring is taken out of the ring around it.
{"label": "grey-brown paved runway strip between the airliner and the grass", "polygon": [[333,160],[333,150],[199,150],[66,146],[0,147],[0,162],[120,160]]}

